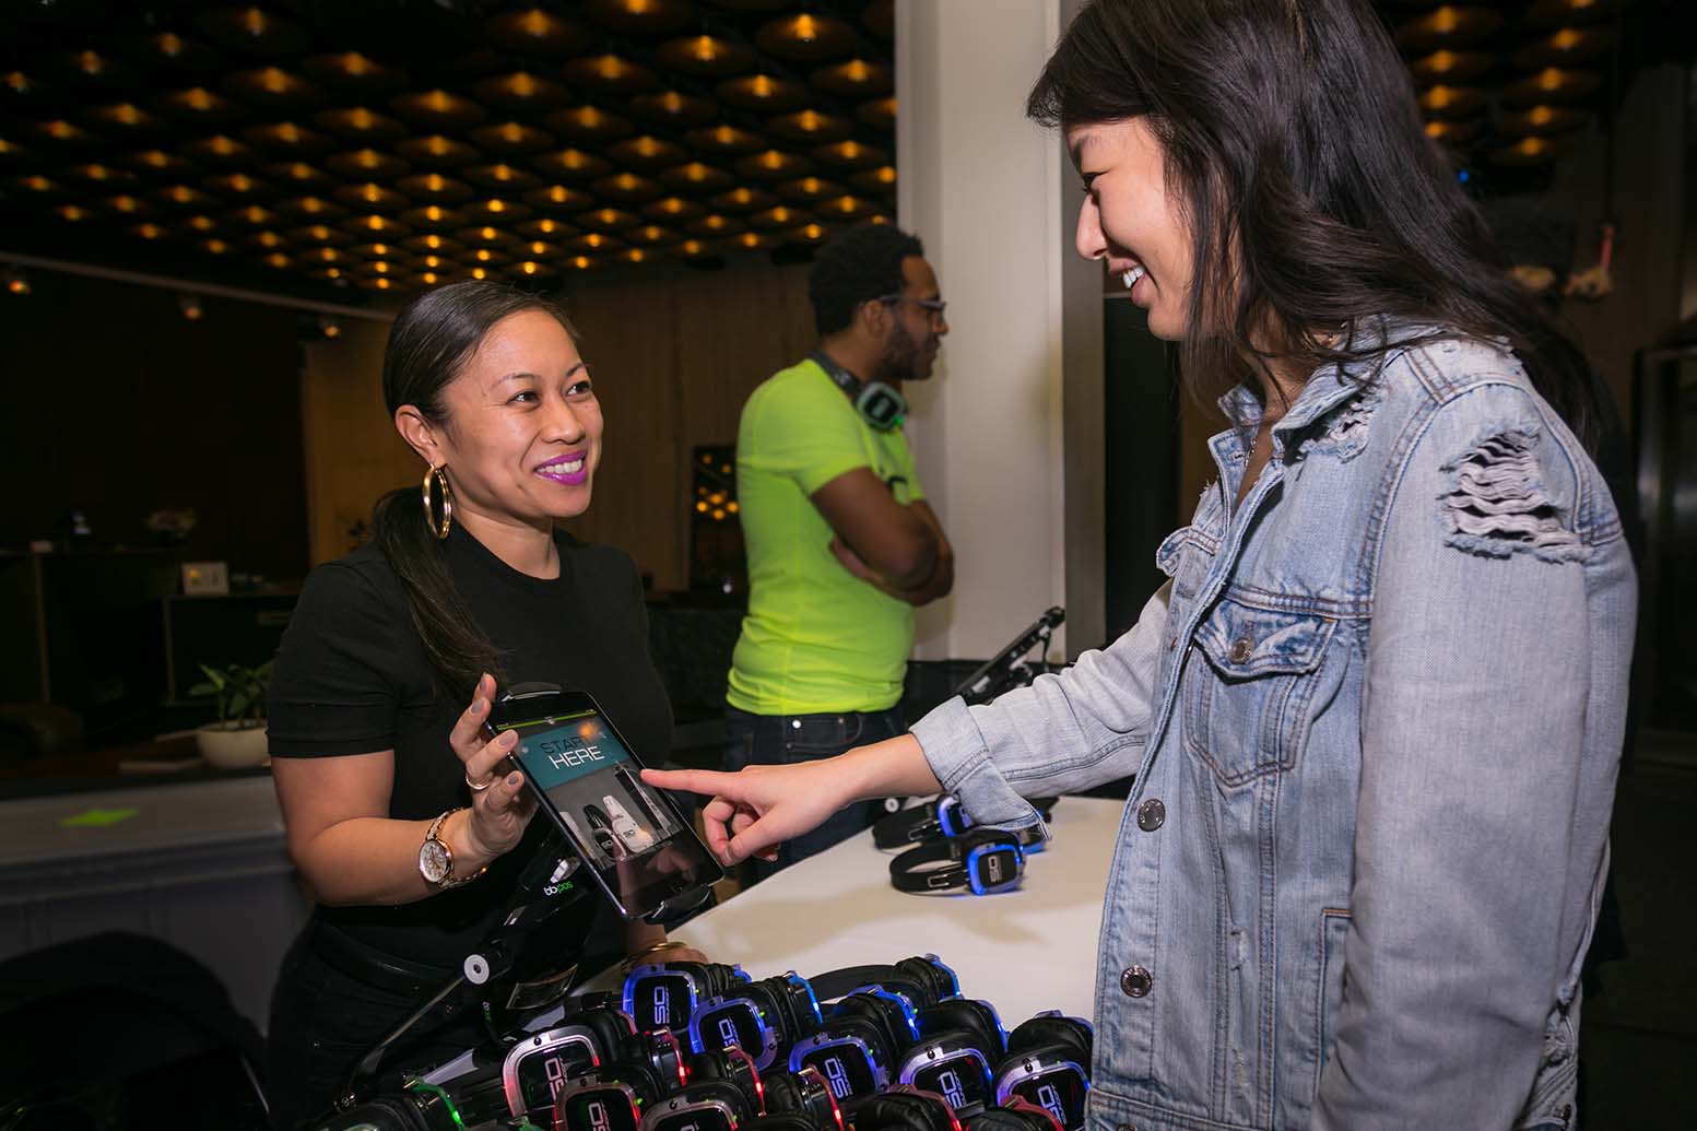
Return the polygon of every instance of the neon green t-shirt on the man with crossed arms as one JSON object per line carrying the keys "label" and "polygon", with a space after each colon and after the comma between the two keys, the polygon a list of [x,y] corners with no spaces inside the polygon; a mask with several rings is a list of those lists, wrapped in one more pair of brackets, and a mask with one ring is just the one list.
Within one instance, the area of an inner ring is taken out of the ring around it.
{"label": "neon green t-shirt on the man with crossed arms", "polygon": [[779,370],[743,406],[736,499],[748,616],[731,659],[731,706],[879,712],[901,698],[913,606],[843,569],[809,498],[855,467],[871,467],[901,504],[925,498],[901,430],[874,431],[816,362]]}

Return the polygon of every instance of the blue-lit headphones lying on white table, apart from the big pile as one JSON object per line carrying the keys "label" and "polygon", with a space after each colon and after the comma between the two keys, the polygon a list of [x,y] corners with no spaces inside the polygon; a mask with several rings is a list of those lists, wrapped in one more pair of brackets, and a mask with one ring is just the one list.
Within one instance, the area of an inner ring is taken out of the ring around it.
{"label": "blue-lit headphones lying on white table, apart from the big pile", "polygon": [[[1032,798],[1045,822],[1054,803],[1052,796]],[[979,829],[959,798],[944,795],[879,820],[872,844],[901,851],[889,861],[889,883],[898,892],[994,895],[1020,886],[1025,858],[1044,851],[1045,832],[1042,825]]]}

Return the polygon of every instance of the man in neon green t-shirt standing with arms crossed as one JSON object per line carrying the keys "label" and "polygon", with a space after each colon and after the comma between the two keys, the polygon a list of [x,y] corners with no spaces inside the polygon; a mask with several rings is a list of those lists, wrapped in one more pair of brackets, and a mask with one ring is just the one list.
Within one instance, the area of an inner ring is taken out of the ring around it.
{"label": "man in neon green t-shirt standing with arms crossed", "polygon": [[[903,734],[913,610],[949,593],[954,552],[901,431],[901,385],[932,375],[949,323],[920,241],[867,224],[808,277],[818,350],[743,406],[736,496],[748,616],[731,661],[726,769],[832,757]],[[755,875],[864,829],[872,805],[787,842]]]}

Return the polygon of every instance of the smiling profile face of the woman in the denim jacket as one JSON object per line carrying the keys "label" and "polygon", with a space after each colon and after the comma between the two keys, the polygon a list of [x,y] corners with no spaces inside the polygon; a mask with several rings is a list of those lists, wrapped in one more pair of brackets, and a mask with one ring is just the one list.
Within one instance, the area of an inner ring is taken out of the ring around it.
{"label": "smiling profile face of the woman in the denim jacket", "polygon": [[1132,302],[1149,311],[1149,333],[1178,341],[1190,316],[1195,241],[1168,195],[1161,141],[1135,117],[1073,126],[1066,141],[1084,178],[1078,253],[1106,260],[1115,279],[1130,280]]}

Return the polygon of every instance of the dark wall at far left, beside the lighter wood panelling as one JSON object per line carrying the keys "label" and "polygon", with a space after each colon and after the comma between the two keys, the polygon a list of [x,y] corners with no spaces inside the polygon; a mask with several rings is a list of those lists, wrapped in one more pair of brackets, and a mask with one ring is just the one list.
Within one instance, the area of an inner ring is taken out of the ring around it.
{"label": "dark wall at far left, beside the lighter wood panelling", "polygon": [[300,341],[292,311],[31,272],[0,294],[0,547],[63,537],[146,545],[193,509],[192,557],[268,579],[307,569]]}

